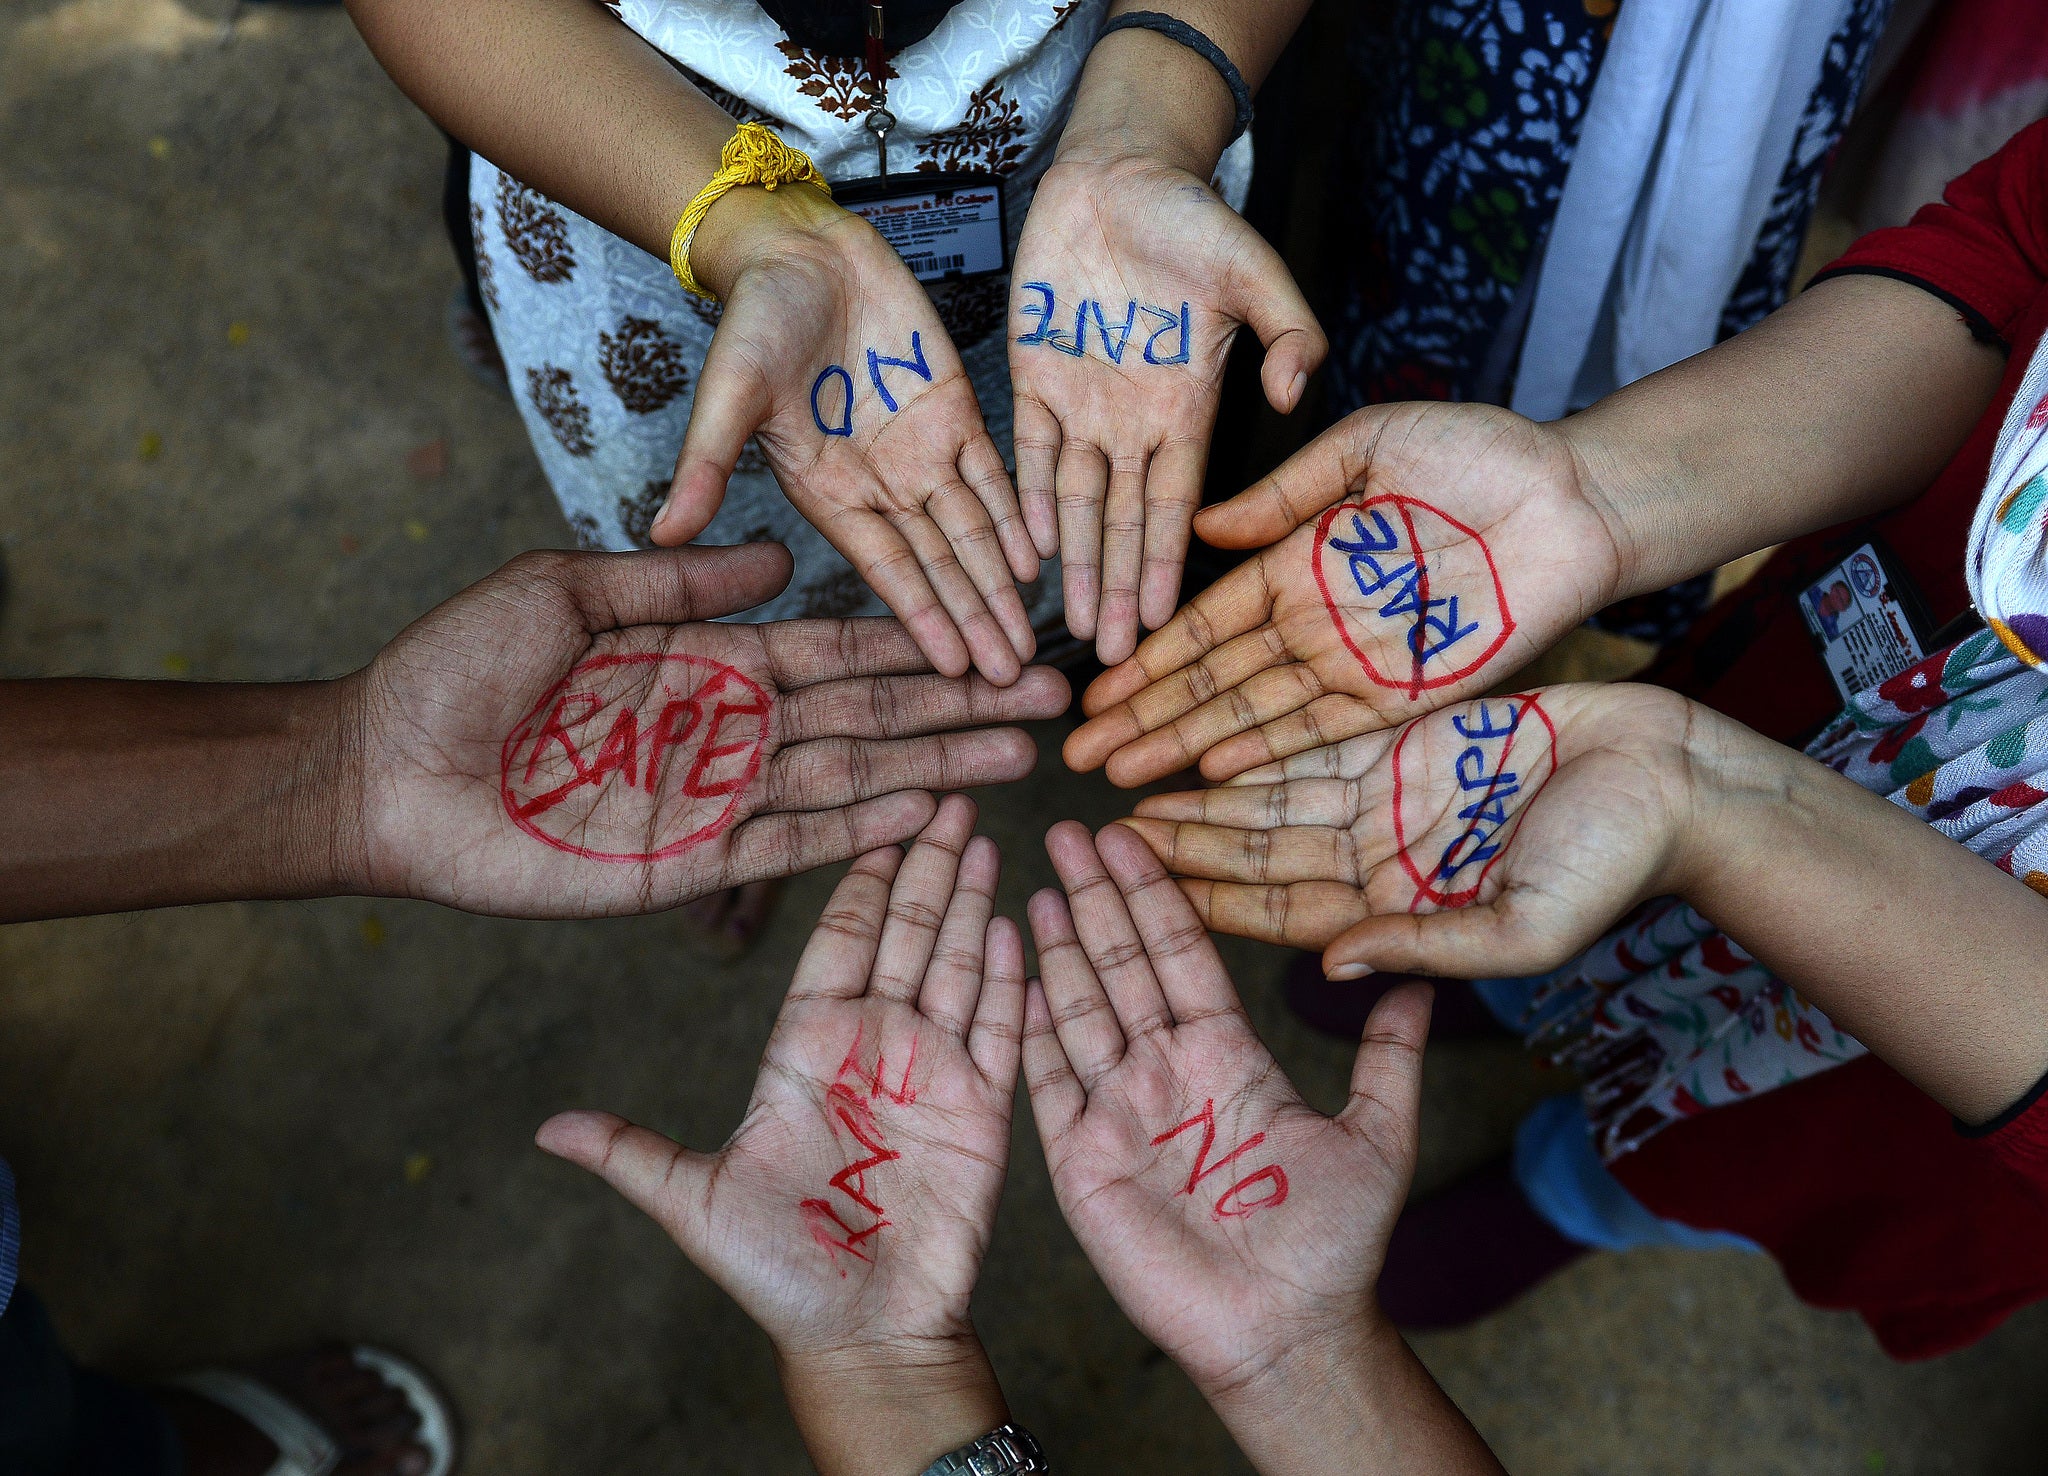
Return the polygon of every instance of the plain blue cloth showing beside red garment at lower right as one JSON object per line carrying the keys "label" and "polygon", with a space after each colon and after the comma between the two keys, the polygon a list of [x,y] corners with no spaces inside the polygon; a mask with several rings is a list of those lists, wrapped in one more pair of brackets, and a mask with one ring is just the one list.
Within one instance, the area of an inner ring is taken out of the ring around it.
{"label": "plain blue cloth showing beside red garment at lower right", "polygon": [[[1532,979],[1475,979],[1473,991],[1513,1032],[1528,1030]],[[1516,1183],[1567,1241],[1595,1251],[1669,1245],[1686,1251],[1759,1251],[1729,1230],[1696,1230],[1651,1214],[1608,1173],[1577,1093],[1546,1097],[1516,1128]]]}

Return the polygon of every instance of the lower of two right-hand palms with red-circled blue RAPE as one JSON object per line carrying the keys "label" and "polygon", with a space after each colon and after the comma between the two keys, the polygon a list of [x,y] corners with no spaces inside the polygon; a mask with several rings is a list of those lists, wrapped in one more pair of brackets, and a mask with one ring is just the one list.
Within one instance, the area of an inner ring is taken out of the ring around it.
{"label": "lower of two right-hand palms with red-circled blue RAPE", "polygon": [[1681,884],[1700,708],[1651,686],[1483,698],[1126,821],[1204,925],[1331,979],[1538,974]]}

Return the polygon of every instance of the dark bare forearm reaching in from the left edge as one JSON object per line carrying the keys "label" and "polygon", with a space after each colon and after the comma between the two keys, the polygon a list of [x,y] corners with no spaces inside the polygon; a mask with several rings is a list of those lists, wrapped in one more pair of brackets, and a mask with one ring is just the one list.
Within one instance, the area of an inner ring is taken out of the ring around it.
{"label": "dark bare forearm reaching in from the left edge", "polygon": [[6,682],[0,733],[0,921],[358,880],[344,682]]}

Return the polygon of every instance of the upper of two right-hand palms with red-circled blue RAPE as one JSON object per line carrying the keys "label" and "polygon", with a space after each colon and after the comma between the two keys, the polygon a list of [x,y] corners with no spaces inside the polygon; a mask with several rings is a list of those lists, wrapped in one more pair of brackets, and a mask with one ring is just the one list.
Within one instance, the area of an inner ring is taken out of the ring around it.
{"label": "upper of two right-hand palms with red-circled blue RAPE", "polygon": [[1489,405],[1362,409],[1196,526],[1270,547],[1087,688],[1075,770],[1221,780],[1393,727],[1499,684],[1620,577],[1565,434]]}

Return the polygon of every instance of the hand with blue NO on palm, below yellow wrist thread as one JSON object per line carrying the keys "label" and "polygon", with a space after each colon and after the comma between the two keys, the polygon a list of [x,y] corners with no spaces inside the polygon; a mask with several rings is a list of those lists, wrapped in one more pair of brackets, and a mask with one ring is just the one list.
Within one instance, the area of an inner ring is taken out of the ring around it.
{"label": "hand with blue NO on palm, below yellow wrist thread", "polygon": [[[750,213],[766,223],[750,227]],[[707,240],[707,231],[711,233]],[[743,246],[731,237],[752,231]],[[692,246],[725,315],[705,356],[653,540],[717,514],[748,436],[944,676],[1008,686],[1036,637],[1038,577],[1010,473],[932,299],[874,229],[817,190],[733,190]]]}

